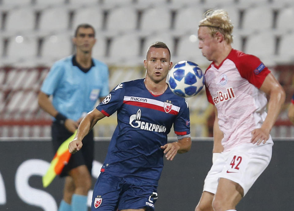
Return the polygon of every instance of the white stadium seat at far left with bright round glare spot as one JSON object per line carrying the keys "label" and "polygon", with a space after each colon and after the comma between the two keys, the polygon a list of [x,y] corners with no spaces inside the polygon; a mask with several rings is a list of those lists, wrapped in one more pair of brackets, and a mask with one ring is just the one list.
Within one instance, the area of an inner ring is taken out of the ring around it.
{"label": "white stadium seat at far left with bright round glare spot", "polygon": [[[20,62],[37,56],[38,40],[34,37],[11,37],[7,46],[7,58],[10,62]],[[4,61],[6,62],[6,61]]]}

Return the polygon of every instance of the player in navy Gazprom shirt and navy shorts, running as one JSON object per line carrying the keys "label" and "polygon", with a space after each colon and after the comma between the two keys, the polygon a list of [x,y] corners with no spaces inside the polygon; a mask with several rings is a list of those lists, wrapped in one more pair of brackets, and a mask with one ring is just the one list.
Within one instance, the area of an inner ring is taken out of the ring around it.
{"label": "player in navy Gazprom shirt and navy shorts, running", "polygon": [[[117,111],[118,125],[94,187],[92,211],[154,210],[164,154],[173,160],[177,153],[190,150],[188,104],[166,83],[170,58],[164,43],[152,44],[144,60],[145,79],[116,86],[85,116],[70,142],[71,153],[80,151],[83,137],[96,122]],[[167,143],[172,125],[178,141]]]}

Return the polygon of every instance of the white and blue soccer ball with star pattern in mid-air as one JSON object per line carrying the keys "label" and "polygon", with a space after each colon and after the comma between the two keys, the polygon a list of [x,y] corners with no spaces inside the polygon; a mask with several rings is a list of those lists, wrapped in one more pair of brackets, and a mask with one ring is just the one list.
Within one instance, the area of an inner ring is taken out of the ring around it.
{"label": "white and blue soccer ball with star pattern in mid-air", "polygon": [[190,61],[180,61],[168,73],[168,86],[181,97],[189,98],[200,92],[205,77],[200,67]]}

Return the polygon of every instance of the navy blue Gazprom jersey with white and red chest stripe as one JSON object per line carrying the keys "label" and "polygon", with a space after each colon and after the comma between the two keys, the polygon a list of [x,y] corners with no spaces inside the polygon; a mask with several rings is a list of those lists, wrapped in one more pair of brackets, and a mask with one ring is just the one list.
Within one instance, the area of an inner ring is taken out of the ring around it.
{"label": "navy blue Gazprom jersey with white and red chest stripe", "polygon": [[163,151],[172,125],[178,135],[190,134],[185,98],[168,88],[151,94],[144,79],[115,87],[96,109],[106,116],[117,111],[118,125],[101,171],[119,177],[137,177],[157,183],[163,168]]}

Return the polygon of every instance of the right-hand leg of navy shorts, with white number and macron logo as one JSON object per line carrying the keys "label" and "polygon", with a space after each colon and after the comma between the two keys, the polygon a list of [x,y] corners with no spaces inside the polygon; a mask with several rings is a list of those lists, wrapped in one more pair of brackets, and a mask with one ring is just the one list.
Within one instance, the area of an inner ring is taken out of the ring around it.
{"label": "right-hand leg of navy shorts, with white number and macron logo", "polygon": [[121,195],[119,210],[154,210],[154,205],[158,198],[157,184],[135,178],[127,178],[126,181],[128,188]]}

